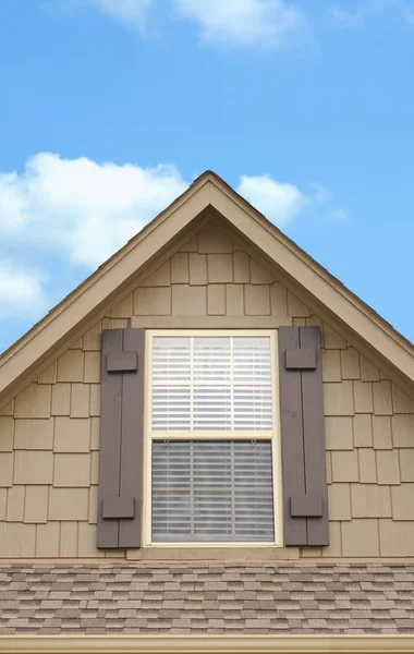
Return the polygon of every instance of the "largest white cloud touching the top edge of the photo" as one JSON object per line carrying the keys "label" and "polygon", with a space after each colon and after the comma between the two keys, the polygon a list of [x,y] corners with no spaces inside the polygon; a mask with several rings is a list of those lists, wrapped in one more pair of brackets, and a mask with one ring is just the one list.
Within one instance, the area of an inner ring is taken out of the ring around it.
{"label": "largest white cloud touching the top edge of the photo", "polygon": [[305,20],[284,0],[173,0],[184,19],[199,24],[209,41],[280,48]]}

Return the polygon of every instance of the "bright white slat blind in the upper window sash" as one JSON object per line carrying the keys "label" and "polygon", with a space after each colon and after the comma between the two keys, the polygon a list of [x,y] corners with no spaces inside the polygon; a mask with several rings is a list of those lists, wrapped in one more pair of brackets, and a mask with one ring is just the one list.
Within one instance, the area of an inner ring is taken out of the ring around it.
{"label": "bright white slat blind in the upper window sash", "polygon": [[153,339],[153,431],[269,431],[269,337]]}

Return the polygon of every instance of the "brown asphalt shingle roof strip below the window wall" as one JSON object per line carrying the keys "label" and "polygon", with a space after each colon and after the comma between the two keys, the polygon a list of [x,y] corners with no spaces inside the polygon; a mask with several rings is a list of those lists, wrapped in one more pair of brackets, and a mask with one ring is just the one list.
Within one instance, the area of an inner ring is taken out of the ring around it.
{"label": "brown asphalt shingle roof strip below the window wall", "polygon": [[0,634],[414,633],[414,564],[0,566]]}

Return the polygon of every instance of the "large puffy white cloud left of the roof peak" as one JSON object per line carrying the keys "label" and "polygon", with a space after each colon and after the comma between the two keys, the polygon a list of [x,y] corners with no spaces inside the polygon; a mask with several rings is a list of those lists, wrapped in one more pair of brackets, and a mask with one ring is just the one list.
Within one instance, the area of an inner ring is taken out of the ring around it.
{"label": "large puffy white cloud left of the roof peak", "polygon": [[0,237],[95,267],[186,186],[173,166],[99,165],[41,153],[22,174],[0,173]]}

